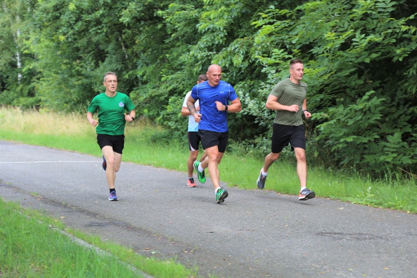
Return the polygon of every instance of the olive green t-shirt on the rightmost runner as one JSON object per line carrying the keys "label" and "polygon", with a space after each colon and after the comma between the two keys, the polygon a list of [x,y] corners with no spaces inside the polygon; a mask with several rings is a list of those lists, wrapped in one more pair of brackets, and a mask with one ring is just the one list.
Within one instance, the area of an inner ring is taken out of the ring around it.
{"label": "olive green t-shirt on the rightmost runner", "polygon": [[298,112],[277,110],[274,123],[293,126],[301,125],[302,103],[307,95],[307,84],[301,81],[300,84],[294,84],[289,78],[284,79],[275,85],[271,94],[278,97],[277,102],[282,105],[290,106],[297,104],[299,106]]}

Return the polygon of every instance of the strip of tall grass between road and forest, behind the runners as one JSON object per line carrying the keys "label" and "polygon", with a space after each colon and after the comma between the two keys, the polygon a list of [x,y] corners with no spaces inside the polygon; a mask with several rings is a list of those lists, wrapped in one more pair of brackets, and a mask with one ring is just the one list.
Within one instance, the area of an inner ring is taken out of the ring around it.
{"label": "strip of tall grass between road and forest, behind the runners", "polygon": [[[101,156],[95,129],[85,116],[1,108],[0,120],[0,139]],[[126,126],[125,135],[123,161],[186,171],[188,148],[185,135],[173,138],[169,132],[140,119]],[[219,165],[221,180],[229,186],[255,189],[255,181],[263,165],[260,157],[264,155],[266,153],[248,155],[232,143]],[[287,157],[290,159],[280,159],[271,166],[266,188],[296,195],[299,190],[296,162],[295,158]],[[340,174],[309,165],[308,187],[319,198],[417,213],[415,175],[375,181],[353,171],[351,174]]]}

